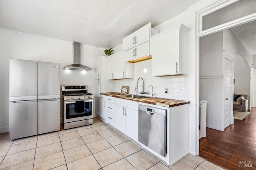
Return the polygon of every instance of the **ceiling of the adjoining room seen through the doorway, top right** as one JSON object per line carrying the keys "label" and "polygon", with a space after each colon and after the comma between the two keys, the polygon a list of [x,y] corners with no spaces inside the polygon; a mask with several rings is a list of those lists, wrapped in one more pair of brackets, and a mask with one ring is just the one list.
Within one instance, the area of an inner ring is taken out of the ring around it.
{"label": "ceiling of the adjoining room seen through the doorway, top right", "polygon": [[246,49],[256,55],[256,20],[231,28]]}

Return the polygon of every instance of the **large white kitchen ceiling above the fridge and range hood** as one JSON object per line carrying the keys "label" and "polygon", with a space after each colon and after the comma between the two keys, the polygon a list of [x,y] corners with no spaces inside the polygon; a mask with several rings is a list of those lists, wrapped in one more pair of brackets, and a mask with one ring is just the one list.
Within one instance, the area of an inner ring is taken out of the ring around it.
{"label": "large white kitchen ceiling above the fridge and range hood", "polygon": [[108,48],[200,0],[0,0],[0,27]]}

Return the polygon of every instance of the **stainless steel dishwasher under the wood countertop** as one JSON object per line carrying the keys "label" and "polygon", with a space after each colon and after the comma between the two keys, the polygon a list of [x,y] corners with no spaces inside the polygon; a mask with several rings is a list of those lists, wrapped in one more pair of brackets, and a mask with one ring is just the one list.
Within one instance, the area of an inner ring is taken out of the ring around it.
{"label": "stainless steel dishwasher under the wood countertop", "polygon": [[139,142],[166,156],[167,109],[139,105]]}

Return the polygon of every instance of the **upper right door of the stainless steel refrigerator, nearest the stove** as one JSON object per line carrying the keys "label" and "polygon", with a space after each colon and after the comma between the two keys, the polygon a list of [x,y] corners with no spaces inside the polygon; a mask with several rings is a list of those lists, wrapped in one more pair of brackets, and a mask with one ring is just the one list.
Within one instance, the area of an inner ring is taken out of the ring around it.
{"label": "upper right door of the stainless steel refrigerator, nearest the stove", "polygon": [[37,95],[40,99],[60,98],[60,64],[37,62]]}

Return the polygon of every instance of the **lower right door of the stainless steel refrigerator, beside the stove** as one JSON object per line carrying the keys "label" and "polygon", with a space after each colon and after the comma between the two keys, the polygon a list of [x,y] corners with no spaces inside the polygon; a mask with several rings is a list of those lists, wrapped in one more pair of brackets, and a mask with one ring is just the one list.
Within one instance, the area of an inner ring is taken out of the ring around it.
{"label": "lower right door of the stainless steel refrigerator, beside the stove", "polygon": [[38,135],[60,130],[60,99],[38,100]]}

